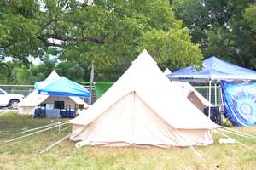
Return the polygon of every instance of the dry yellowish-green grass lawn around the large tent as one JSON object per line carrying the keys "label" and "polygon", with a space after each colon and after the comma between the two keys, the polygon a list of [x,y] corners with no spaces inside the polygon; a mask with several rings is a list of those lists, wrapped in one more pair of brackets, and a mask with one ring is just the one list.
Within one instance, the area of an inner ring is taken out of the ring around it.
{"label": "dry yellowish-green grass lawn around the large tent", "polygon": [[[63,120],[54,120],[54,122]],[[191,148],[102,148],[76,149],[73,141],[65,140],[42,155],[38,152],[71,132],[70,125],[38,133],[14,142],[4,140],[18,137],[21,129],[39,127],[53,122],[32,119],[14,113],[0,116],[0,169],[256,169],[256,152],[239,144],[218,144],[220,136],[213,133],[214,144],[195,147],[204,156],[202,161]],[[235,127],[233,127],[235,128]],[[64,129],[64,130],[63,130]],[[236,127],[255,134],[256,127]],[[110,132],[111,133],[111,132]],[[255,139],[233,136],[256,149]]]}

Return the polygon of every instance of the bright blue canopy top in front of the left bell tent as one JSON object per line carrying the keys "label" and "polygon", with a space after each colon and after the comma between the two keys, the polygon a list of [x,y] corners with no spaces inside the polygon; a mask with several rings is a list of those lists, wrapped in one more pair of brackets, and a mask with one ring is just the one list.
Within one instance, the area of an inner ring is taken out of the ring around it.
{"label": "bright blue canopy top in front of the left bell tent", "polygon": [[56,78],[50,81],[35,82],[34,87],[38,94],[55,96],[77,96],[89,98],[90,92],[76,82],[68,80],[66,77]]}

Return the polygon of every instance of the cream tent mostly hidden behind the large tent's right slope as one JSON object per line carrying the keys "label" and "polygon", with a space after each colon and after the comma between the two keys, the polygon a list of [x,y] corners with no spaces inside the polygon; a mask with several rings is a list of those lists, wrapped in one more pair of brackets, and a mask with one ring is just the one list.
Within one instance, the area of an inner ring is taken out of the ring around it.
{"label": "cream tent mostly hidden behind the large tent's right slope", "polygon": [[[166,68],[164,74],[170,75],[172,72]],[[179,82],[179,81],[172,81],[173,85],[176,84],[179,89],[180,93],[182,93],[185,97],[187,97],[198,109],[204,111],[206,107],[212,106],[212,104],[205,99],[189,82]]]}

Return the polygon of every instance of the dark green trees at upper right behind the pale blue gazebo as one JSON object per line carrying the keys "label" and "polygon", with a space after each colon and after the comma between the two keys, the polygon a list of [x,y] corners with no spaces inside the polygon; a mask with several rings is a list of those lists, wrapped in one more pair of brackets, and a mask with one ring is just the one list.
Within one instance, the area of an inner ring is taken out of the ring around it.
{"label": "dark green trees at upper right behind the pale blue gazebo", "polygon": [[216,55],[256,69],[253,0],[174,0],[177,18],[200,43],[205,57]]}

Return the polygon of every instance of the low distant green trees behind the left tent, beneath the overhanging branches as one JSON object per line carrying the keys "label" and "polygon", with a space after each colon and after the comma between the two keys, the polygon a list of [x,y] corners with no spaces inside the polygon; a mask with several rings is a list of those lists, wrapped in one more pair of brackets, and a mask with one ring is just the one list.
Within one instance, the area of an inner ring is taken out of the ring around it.
{"label": "low distant green trees behind the left tent, beneath the overhanging branches", "polygon": [[53,70],[73,81],[90,79],[90,74],[86,74],[84,68],[76,62],[57,62],[56,59],[49,59],[49,56],[44,56],[43,61],[41,65],[30,67],[15,62],[0,63],[0,84],[32,85],[34,82],[45,80]]}

